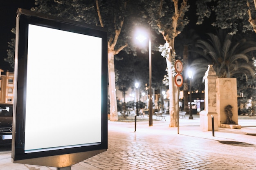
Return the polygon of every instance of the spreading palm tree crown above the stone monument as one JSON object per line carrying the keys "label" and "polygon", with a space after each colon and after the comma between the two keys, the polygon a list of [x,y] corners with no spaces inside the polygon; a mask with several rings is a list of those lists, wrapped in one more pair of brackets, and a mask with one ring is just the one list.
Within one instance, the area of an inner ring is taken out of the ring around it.
{"label": "spreading palm tree crown above the stone monument", "polygon": [[[247,53],[256,50],[255,42],[242,39],[232,42],[232,35],[224,30],[217,35],[208,33],[210,39],[198,40],[196,46],[204,58],[193,61],[192,65],[200,65],[200,68],[213,64],[218,77],[230,78],[234,75],[253,75],[254,67],[249,62]],[[196,63],[197,62],[197,63]],[[196,63],[196,64],[195,64]],[[198,68],[197,68],[198,69]]]}

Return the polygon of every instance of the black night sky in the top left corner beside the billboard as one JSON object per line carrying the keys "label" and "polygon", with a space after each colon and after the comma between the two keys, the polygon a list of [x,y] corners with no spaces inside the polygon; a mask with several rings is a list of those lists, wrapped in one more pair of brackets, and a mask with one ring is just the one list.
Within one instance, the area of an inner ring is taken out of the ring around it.
{"label": "black night sky in the top left corner beside the billboard", "polygon": [[7,42],[15,35],[11,33],[11,29],[16,26],[16,11],[18,8],[31,9],[35,4],[35,0],[1,0],[0,1],[0,68],[4,71],[13,71],[8,62],[4,62],[7,58]]}

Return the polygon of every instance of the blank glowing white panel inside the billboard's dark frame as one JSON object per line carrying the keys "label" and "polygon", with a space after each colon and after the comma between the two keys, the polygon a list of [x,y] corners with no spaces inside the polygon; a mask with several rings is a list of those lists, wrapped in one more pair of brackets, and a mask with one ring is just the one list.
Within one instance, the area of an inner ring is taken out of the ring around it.
{"label": "blank glowing white panel inside the billboard's dark frame", "polygon": [[102,40],[29,24],[25,153],[101,142]]}

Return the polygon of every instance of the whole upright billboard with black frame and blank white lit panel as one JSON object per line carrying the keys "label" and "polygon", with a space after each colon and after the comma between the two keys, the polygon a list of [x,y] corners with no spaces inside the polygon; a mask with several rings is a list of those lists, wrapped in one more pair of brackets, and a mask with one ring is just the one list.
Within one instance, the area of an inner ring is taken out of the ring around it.
{"label": "whole upright billboard with black frame and blank white lit panel", "polygon": [[105,151],[106,30],[24,9],[16,20],[13,162]]}

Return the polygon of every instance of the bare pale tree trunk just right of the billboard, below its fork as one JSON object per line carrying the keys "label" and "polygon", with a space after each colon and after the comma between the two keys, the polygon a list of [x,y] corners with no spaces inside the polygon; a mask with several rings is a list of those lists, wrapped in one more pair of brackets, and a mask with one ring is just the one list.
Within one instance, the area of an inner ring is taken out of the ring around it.
{"label": "bare pale tree trunk just right of the billboard, below its fork", "polygon": [[114,53],[108,52],[108,93],[110,97],[110,121],[118,121],[115,84]]}

